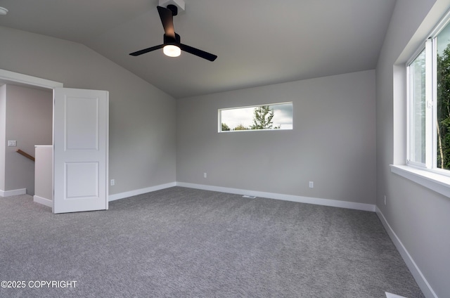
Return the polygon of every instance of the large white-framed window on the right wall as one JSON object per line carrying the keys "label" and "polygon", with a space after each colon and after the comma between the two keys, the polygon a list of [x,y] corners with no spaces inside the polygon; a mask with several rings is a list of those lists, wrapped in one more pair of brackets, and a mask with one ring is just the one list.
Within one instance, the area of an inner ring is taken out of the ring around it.
{"label": "large white-framed window on the right wall", "polygon": [[450,174],[450,25],[408,64],[408,164]]}

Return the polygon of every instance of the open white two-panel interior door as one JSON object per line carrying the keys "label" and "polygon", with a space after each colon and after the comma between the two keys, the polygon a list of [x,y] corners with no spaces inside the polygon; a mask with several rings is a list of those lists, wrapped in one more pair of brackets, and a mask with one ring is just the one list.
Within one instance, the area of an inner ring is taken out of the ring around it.
{"label": "open white two-panel interior door", "polygon": [[108,91],[53,91],[53,213],[108,209]]}

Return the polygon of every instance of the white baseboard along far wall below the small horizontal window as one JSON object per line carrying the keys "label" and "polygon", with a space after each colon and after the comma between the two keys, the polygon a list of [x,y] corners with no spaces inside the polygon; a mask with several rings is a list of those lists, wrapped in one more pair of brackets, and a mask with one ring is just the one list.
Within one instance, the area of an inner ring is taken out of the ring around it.
{"label": "white baseboard along far wall below the small horizontal window", "polygon": [[375,205],[357,203],[357,202],[320,199],[317,197],[302,197],[299,195],[283,195],[281,193],[265,193],[262,191],[255,191],[255,190],[226,188],[226,187],[220,187],[220,186],[206,186],[203,184],[184,183],[184,182],[176,182],[176,186],[219,191],[221,193],[234,193],[234,194],[238,194],[238,195],[266,197],[268,199],[275,199],[275,200],[284,200],[284,201],[291,201],[291,202],[300,202],[300,203],[307,203],[307,204],[314,204],[314,205],[323,205],[323,206],[330,206],[330,207],[340,207],[340,208],[375,212]]}

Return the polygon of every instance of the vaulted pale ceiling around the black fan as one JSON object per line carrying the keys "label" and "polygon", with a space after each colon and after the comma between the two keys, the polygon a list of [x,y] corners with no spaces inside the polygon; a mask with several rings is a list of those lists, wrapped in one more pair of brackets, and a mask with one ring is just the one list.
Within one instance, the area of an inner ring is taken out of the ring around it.
{"label": "vaulted pale ceiling around the black fan", "polygon": [[210,62],[162,50],[158,0],[0,0],[0,25],[77,41],[184,98],[298,79],[371,70],[395,0],[185,0],[174,17],[181,42]]}

